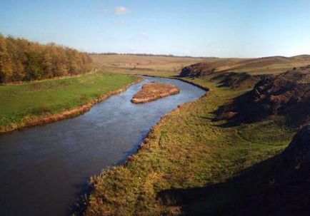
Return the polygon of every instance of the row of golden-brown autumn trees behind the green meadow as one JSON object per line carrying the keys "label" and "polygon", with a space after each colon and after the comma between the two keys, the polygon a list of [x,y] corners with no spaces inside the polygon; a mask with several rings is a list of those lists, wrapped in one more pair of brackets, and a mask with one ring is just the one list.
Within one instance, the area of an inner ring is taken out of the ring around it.
{"label": "row of golden-brown autumn trees behind the green meadow", "polygon": [[86,73],[91,57],[72,48],[0,34],[0,83]]}

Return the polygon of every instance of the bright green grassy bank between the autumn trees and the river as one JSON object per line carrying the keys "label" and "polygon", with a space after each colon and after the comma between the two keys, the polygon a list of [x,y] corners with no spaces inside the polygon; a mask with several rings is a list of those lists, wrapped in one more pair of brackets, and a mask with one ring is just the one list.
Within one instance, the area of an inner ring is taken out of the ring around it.
{"label": "bright green grassy bank between the autumn trees and the river", "polygon": [[[132,76],[97,72],[71,78],[0,85],[0,131],[23,127],[34,118],[38,121],[44,116],[86,106],[96,98],[109,95],[134,81],[136,78]],[[80,113],[83,110],[74,114]]]}

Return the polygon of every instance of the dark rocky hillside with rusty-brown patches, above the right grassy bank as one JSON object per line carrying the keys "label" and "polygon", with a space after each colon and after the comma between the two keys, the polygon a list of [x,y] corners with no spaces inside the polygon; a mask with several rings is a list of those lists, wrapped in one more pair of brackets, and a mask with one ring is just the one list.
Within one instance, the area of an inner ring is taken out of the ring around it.
{"label": "dark rocky hillside with rusty-brown patches, above the right grassy bank", "polygon": [[219,110],[220,118],[251,123],[271,115],[284,116],[290,126],[310,120],[310,66],[262,78],[254,88]]}

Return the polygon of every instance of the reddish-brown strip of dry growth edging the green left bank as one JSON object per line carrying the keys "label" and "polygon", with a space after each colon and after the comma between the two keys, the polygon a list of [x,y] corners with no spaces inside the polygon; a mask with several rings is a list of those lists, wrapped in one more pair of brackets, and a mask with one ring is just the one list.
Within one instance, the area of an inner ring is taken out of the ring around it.
{"label": "reddish-brown strip of dry growth edging the green left bank", "polygon": [[6,127],[0,126],[0,135],[4,134],[4,133],[9,133],[9,132],[14,131],[14,130],[21,130],[24,128],[30,128],[30,127],[37,126],[37,125],[45,125],[47,123],[52,123],[52,122],[56,122],[59,120],[65,120],[66,118],[74,118],[78,115],[82,115],[82,114],[88,112],[89,110],[91,110],[91,108],[94,105],[96,105],[97,103],[100,103],[101,101],[104,101],[111,96],[114,96],[116,94],[124,92],[130,86],[133,86],[136,83],[140,83],[143,80],[144,80],[144,78],[137,77],[136,81],[131,82],[122,88],[119,88],[115,91],[109,91],[107,93],[104,93],[101,96],[93,99],[89,103],[86,103],[82,106],[79,106],[79,107],[76,107],[76,108],[73,108],[70,110],[65,110],[61,113],[54,113],[51,115],[42,115],[42,116],[33,116],[30,118],[24,118],[23,120],[21,120],[20,123],[12,123]]}

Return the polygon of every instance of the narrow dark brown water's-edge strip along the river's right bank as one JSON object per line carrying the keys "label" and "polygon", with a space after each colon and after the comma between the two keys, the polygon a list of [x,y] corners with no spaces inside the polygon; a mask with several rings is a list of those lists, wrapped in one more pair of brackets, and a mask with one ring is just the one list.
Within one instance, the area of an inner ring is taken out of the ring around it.
{"label": "narrow dark brown water's-edge strip along the river's right bank", "polygon": [[[176,79],[176,80],[179,80],[179,81],[183,81],[184,83],[189,83],[189,84],[191,84],[193,86],[196,86],[197,88],[201,88],[202,90],[206,91],[206,93],[204,93],[203,96],[201,96],[200,98],[196,99],[195,101],[200,101],[201,99],[206,98],[208,96],[208,92],[211,91],[210,88],[206,88],[204,86],[200,86],[199,84],[192,83],[191,81],[186,81],[183,78],[164,77],[164,76],[148,76],[148,75],[135,75],[135,76],[141,76],[141,77],[146,76],[146,77]],[[146,134],[146,136],[141,141],[141,143],[137,146],[136,151],[133,154],[127,156],[126,160],[124,160],[123,163],[111,166],[109,168],[105,168],[98,175],[102,175],[103,173],[106,172],[106,170],[110,170],[110,169],[113,169],[113,168],[116,168],[116,167],[125,167],[126,165],[131,163],[131,160],[134,160],[135,155],[137,155],[137,153],[139,153],[140,150],[143,150],[143,149],[148,147],[148,144],[149,144],[149,142],[151,140],[151,133],[154,130],[156,130],[156,128],[160,128],[161,125],[164,125],[164,123],[166,121],[166,118],[169,118],[169,115],[171,115],[171,114],[173,114],[175,112],[178,112],[179,110],[183,109],[184,106],[188,105],[189,103],[193,103],[195,101],[189,101],[187,103],[181,104],[177,108],[174,108],[173,110],[169,111],[169,113],[166,113],[165,115],[163,115],[155,125],[153,125],[153,126],[151,126],[151,128],[149,128],[149,132]],[[92,183],[91,183],[91,178],[92,178],[92,176],[89,178],[89,188],[90,188],[89,190],[91,190],[91,191],[87,192],[87,194],[84,195],[83,197],[78,197],[78,200],[75,203],[76,207],[73,210],[73,215],[74,216],[76,216],[76,215],[81,216],[81,215],[84,215],[87,212],[87,209],[89,207],[89,195],[91,195],[92,190],[94,188]]]}

